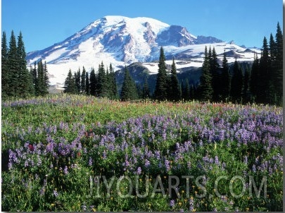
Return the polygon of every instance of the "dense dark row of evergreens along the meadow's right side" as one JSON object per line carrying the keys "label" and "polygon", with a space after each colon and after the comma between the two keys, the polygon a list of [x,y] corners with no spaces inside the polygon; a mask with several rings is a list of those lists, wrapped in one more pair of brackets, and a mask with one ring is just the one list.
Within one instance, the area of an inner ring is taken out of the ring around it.
{"label": "dense dark row of evergreens along the meadow's right side", "polygon": [[275,40],[270,34],[270,44],[264,37],[260,59],[255,54],[251,68],[241,68],[235,61],[229,72],[224,53],[222,70],[217,63],[215,49],[207,51],[202,66],[198,97],[203,101],[280,105],[283,101],[283,39],[279,23]]}

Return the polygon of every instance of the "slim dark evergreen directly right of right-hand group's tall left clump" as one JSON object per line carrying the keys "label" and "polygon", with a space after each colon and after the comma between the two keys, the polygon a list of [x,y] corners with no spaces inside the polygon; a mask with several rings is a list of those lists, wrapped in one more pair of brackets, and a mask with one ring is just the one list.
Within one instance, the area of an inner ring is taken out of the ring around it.
{"label": "slim dark evergreen directly right of right-hand group's tall left clump", "polygon": [[227,63],[226,52],[224,51],[224,57],[222,59],[222,74],[220,78],[220,94],[222,100],[227,101],[229,99],[229,92],[231,89],[231,77],[229,75],[229,65]]}

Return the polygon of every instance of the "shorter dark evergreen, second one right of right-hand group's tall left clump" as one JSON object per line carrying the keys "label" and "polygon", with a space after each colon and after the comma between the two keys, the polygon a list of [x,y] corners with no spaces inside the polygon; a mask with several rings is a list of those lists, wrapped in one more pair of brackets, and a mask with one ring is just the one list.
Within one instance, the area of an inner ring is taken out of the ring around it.
{"label": "shorter dark evergreen, second one right of right-hand group's tall left clump", "polygon": [[243,89],[243,73],[237,61],[234,61],[231,97],[234,102],[241,102],[241,92]]}

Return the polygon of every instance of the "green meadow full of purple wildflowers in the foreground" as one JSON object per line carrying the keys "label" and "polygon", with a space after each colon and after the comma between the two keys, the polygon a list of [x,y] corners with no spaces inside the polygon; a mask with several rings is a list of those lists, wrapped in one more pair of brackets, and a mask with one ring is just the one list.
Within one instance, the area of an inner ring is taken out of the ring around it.
{"label": "green meadow full of purple wildflowers in the foreground", "polygon": [[2,211],[283,209],[280,107],[2,102]]}

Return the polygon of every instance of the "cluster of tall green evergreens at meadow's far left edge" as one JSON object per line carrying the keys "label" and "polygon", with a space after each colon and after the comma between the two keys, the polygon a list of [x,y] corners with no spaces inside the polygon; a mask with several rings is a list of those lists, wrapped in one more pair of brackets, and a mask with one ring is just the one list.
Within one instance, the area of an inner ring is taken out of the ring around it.
{"label": "cluster of tall green evergreens at meadow's far left edge", "polygon": [[22,32],[16,41],[12,30],[9,47],[6,32],[3,32],[1,42],[1,98],[27,98],[48,94],[49,75],[46,63],[39,60],[34,62],[34,68],[27,68]]}

